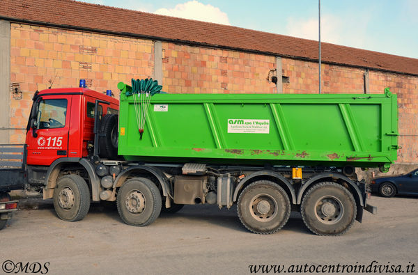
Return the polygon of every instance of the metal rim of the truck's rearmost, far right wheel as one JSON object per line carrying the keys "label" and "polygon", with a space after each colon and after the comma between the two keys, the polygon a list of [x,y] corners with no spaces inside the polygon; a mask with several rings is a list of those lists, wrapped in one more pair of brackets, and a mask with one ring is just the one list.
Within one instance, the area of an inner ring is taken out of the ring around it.
{"label": "metal rim of the truck's rearmost, far right wheel", "polygon": [[323,196],[315,204],[315,215],[318,221],[325,224],[338,223],[344,214],[341,201],[334,196]]}

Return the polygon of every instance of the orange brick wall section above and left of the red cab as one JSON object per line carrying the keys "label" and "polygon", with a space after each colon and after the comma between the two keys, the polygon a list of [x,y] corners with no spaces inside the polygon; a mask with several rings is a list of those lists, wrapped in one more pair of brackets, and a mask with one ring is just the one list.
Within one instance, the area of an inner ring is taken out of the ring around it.
{"label": "orange brick wall section above and left of the red cab", "polygon": [[[11,97],[10,127],[26,127],[31,97],[51,85],[77,87],[86,79],[95,91],[111,89],[119,81],[153,75],[153,42],[25,24],[11,24],[10,82],[18,84],[22,99]],[[24,130],[10,133],[10,141],[24,143]]]}

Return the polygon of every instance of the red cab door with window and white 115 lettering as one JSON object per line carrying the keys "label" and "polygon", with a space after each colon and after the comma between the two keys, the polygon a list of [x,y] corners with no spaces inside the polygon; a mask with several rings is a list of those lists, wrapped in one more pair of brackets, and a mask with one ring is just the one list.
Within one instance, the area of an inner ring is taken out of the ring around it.
{"label": "red cab door with window and white 115 lettering", "polygon": [[42,96],[36,104],[36,120],[27,134],[27,164],[50,165],[68,157],[68,132],[72,95]]}

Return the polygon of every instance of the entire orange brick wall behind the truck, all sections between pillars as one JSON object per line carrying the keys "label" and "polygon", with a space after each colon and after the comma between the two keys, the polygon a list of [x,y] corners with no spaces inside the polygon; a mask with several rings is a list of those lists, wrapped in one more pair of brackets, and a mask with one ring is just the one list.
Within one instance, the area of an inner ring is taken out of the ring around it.
{"label": "entire orange brick wall behind the truck, all sections between pillars", "polygon": [[[10,95],[10,127],[26,127],[31,97],[37,89],[78,86],[118,95],[118,81],[153,76],[153,41],[11,24],[11,82],[22,98]],[[281,58],[289,83],[284,93],[317,93],[318,64]],[[274,56],[249,54],[162,42],[163,91],[169,93],[274,93],[266,78],[275,68]],[[364,69],[322,65],[323,93],[364,93]],[[369,72],[370,93],[389,86],[398,95],[398,162],[418,163],[418,77]],[[10,134],[13,143],[24,142],[24,130]]]}

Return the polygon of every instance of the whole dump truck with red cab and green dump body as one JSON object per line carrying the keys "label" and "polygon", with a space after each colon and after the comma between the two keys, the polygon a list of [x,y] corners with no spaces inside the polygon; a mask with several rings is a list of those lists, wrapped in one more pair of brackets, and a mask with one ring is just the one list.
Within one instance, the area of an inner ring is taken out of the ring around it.
{"label": "whole dump truck with red cab and green dump body", "polygon": [[116,203],[132,226],[183,205],[236,205],[252,233],[277,232],[293,210],[311,232],[341,235],[364,210],[376,213],[356,168],[387,171],[397,156],[389,89],[171,94],[134,81],[118,89],[119,102],[84,87],[33,97],[20,182],[52,198],[63,220],[83,219],[91,201]]}

